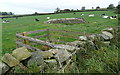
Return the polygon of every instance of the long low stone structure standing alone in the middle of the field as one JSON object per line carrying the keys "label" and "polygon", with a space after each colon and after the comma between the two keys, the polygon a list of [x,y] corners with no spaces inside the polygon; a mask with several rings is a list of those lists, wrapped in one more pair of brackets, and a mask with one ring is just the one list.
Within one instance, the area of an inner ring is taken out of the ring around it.
{"label": "long low stone structure standing alone in the middle of the field", "polygon": [[62,18],[62,19],[51,19],[44,23],[86,23],[83,18]]}

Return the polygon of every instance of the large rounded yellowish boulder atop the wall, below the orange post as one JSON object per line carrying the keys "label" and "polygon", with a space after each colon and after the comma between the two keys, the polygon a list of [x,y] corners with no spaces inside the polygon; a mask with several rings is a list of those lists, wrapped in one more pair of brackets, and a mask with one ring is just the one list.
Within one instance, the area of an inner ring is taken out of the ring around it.
{"label": "large rounded yellowish boulder atop the wall, below the orange post", "polygon": [[12,52],[12,55],[18,60],[25,60],[31,56],[31,52],[27,48],[17,48]]}

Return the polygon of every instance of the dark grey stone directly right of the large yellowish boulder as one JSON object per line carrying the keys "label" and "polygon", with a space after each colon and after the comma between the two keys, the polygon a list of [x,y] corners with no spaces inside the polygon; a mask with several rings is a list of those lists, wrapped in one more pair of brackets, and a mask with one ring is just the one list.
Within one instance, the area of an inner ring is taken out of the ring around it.
{"label": "dark grey stone directly right of the large yellowish boulder", "polygon": [[31,64],[42,65],[44,63],[43,56],[40,54],[41,51],[35,51],[32,53],[32,56],[28,60],[28,66]]}

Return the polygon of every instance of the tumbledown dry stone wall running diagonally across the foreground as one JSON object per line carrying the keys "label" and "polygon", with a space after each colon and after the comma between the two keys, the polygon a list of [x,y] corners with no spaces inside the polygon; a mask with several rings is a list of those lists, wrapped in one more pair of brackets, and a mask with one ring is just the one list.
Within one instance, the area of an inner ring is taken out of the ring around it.
{"label": "tumbledown dry stone wall running diagonally across the foreground", "polygon": [[[70,63],[76,62],[76,52],[81,48],[91,45],[93,49],[99,49],[100,43],[109,45],[112,39],[116,38],[118,28],[106,28],[100,34],[80,36],[78,40],[67,42],[66,44],[56,44],[53,49],[47,51],[30,52],[27,48],[21,47],[13,51],[13,53],[6,53],[0,62],[0,73],[6,73],[11,67],[22,66],[22,70],[31,64],[37,64],[40,67],[39,71],[52,70],[55,73],[64,73],[65,68]],[[24,60],[24,61],[23,61]],[[24,62],[26,62],[25,65]],[[72,65],[73,66],[73,65]],[[24,67],[24,68],[23,68]]]}

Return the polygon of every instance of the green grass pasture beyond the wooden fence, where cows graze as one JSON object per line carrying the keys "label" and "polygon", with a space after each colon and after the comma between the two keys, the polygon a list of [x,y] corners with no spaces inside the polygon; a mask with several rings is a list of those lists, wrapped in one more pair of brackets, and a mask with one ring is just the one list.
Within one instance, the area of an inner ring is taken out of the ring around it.
{"label": "green grass pasture beyond the wooden fence, where cows graze", "polygon": [[[86,24],[44,24],[47,21],[46,17],[49,16],[51,19],[56,18],[82,18],[80,14],[85,14],[82,16],[87,23]],[[118,25],[118,20],[114,19],[103,19],[100,15],[107,14],[108,16],[116,15],[114,11],[92,11],[92,12],[76,12],[64,13],[64,14],[53,14],[53,15],[39,15],[39,16],[26,16],[15,18],[5,18],[3,20],[9,20],[10,23],[2,24],[2,52],[11,53],[16,48],[16,32],[27,32],[40,29],[60,29],[60,30],[70,30],[86,33],[99,33],[101,29]],[[89,14],[95,14],[95,17],[88,17]],[[40,19],[39,22],[34,21],[35,18]]]}

